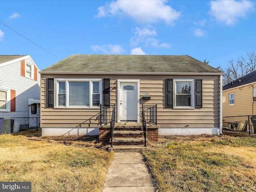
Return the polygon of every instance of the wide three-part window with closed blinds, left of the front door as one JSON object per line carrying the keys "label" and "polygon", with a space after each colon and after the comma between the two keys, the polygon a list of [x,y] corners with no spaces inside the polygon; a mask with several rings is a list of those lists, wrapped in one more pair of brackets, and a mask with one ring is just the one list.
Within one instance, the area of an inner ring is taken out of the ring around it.
{"label": "wide three-part window with closed blinds, left of the front door", "polygon": [[56,107],[99,107],[101,84],[100,79],[56,79]]}

